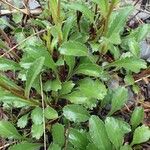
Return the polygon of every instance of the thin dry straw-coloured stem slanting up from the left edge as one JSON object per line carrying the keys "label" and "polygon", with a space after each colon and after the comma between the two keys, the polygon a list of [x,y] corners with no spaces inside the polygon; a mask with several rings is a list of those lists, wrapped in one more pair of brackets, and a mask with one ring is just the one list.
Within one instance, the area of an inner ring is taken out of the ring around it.
{"label": "thin dry straw-coloured stem slanting up from the left edge", "polygon": [[22,40],[20,43],[18,43],[17,45],[15,45],[14,47],[12,47],[10,50],[8,50],[7,52],[5,52],[3,55],[0,56],[0,58],[4,57],[5,55],[9,54],[10,52],[12,52],[14,49],[16,49],[18,46],[20,46],[21,44],[23,44],[24,42],[26,42],[28,39],[30,39],[31,37],[37,35],[37,34],[41,34],[44,33],[46,30],[41,30],[39,32],[36,32],[30,36],[28,36],[27,38],[25,38],[24,40]]}

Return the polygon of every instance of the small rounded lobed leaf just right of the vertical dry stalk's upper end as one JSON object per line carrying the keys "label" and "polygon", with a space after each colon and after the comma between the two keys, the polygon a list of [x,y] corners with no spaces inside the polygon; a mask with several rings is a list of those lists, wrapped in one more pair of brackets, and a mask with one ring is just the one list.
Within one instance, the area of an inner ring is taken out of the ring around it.
{"label": "small rounded lobed leaf just right of the vertical dry stalk's upper end", "polygon": [[61,89],[61,82],[57,79],[55,80],[49,80],[44,84],[44,90],[46,92],[50,91],[58,91]]}

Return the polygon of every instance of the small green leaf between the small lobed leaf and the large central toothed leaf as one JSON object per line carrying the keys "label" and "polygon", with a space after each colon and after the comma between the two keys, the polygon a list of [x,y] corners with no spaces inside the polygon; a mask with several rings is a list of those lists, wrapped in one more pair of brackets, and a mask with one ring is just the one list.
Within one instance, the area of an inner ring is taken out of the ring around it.
{"label": "small green leaf between the small lobed leaf and the large central toothed leaf", "polygon": [[75,84],[72,81],[66,81],[62,83],[62,89],[59,91],[60,95],[68,94],[71,92]]}

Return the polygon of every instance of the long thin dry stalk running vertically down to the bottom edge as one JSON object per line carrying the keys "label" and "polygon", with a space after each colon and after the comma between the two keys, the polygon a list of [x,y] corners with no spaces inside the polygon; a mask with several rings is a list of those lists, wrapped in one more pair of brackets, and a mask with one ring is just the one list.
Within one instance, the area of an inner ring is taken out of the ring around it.
{"label": "long thin dry stalk running vertically down to the bottom edge", "polygon": [[43,84],[42,78],[40,76],[40,86],[41,86],[41,97],[42,97],[42,110],[43,110],[43,132],[44,132],[44,150],[46,150],[46,131],[45,131],[45,116],[44,116],[44,95],[43,95]]}

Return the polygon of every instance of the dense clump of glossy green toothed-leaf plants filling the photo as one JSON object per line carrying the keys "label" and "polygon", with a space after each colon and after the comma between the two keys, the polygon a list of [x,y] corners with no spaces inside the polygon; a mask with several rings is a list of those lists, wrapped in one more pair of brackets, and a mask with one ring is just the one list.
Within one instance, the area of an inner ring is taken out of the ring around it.
{"label": "dense clump of glossy green toothed-leaf plants filling the photo", "polygon": [[[17,142],[10,150],[130,150],[149,140],[142,107],[130,122],[118,114],[128,101],[127,86],[136,86],[133,74],[147,68],[139,41],[150,26],[126,34],[134,8],[118,5],[119,0],[49,0],[24,28],[15,20],[16,25],[6,24],[18,42],[10,49],[0,41],[6,50],[0,56],[0,101],[6,112],[19,111],[0,121],[0,136]],[[13,53],[15,48],[21,54]],[[116,74],[125,84],[112,89],[109,81]],[[128,135],[133,139],[126,141]]]}

